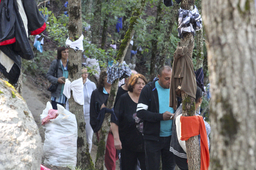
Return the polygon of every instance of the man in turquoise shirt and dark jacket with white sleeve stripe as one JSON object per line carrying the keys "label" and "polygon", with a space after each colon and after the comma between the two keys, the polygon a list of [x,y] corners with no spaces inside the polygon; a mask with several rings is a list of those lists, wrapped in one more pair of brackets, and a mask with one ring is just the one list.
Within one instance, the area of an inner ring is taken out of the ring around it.
{"label": "man in turquoise shirt and dark jacket with white sleeve stripe", "polygon": [[137,105],[137,117],[143,120],[143,137],[147,170],[160,168],[174,170],[173,153],[169,151],[174,110],[169,107],[169,88],[172,68],[162,66],[158,79],[149,82],[141,91]]}

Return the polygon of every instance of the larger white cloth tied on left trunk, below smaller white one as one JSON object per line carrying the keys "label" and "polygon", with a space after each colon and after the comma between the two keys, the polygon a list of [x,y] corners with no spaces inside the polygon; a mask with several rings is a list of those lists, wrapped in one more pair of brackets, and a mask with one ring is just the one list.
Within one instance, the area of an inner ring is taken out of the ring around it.
{"label": "larger white cloth tied on left trunk, below smaller white one", "polygon": [[69,99],[70,98],[70,90],[73,91],[72,95],[74,97],[74,101],[80,105],[84,104],[83,98],[83,78],[74,80],[70,82],[69,79],[66,79],[63,94]]}

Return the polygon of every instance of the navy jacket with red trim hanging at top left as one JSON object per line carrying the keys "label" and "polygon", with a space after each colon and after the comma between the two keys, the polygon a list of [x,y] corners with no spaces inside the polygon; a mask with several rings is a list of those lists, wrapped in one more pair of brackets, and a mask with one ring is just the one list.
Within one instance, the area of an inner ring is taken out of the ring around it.
{"label": "navy jacket with red trim hanging at top left", "polygon": [[[45,20],[39,12],[35,0],[24,0],[24,13],[19,12],[18,0],[0,0],[0,46],[13,44],[20,57],[34,58],[32,48],[22,18],[28,20],[28,35],[42,33]],[[8,55],[7,55],[8,56]]]}

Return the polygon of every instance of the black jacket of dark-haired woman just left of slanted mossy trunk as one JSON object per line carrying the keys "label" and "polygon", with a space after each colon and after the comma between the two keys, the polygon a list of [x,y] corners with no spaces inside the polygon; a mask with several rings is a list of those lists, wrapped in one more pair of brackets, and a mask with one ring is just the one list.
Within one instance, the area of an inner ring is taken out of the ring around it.
{"label": "black jacket of dark-haired woman just left of slanted mossy trunk", "polygon": [[[100,107],[106,99],[108,99],[109,94],[103,93],[103,89],[96,88],[91,94],[90,102],[90,124],[95,132],[97,126],[97,117],[100,112]],[[96,133],[96,132],[95,132]]]}

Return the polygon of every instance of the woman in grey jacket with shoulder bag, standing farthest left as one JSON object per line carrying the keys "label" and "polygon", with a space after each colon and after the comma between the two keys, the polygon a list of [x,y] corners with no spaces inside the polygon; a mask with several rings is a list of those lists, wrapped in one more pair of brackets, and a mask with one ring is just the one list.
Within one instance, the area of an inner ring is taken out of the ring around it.
{"label": "woman in grey jacket with shoulder bag, standing farthest left", "polygon": [[[64,106],[67,97],[63,94],[65,79],[69,76],[68,71],[69,49],[59,47],[57,50],[57,60],[53,60],[46,74],[46,78],[53,84],[58,83],[57,90],[51,92],[52,108],[57,110],[57,104]],[[58,75],[54,77],[54,71],[58,67]]]}

